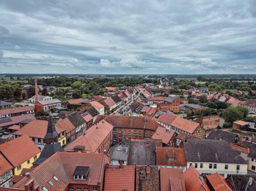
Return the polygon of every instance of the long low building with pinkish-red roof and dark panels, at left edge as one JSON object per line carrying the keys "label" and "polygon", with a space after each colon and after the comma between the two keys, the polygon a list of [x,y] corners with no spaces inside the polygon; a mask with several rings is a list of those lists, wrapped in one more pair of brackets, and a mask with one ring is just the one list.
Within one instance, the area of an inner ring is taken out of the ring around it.
{"label": "long low building with pinkish-red roof and dark panels, at left edge", "polygon": [[13,125],[19,125],[21,121],[24,120],[34,120],[35,117],[32,114],[26,114],[26,115],[18,115],[8,118],[2,118],[0,119],[0,130],[7,129],[8,127],[11,127]]}

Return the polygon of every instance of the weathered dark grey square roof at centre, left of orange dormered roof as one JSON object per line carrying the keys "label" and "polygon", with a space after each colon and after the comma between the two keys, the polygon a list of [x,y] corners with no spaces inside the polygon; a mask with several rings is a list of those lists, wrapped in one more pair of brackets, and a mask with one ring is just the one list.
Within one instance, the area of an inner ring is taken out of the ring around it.
{"label": "weathered dark grey square roof at centre, left of orange dormered roof", "polygon": [[131,141],[128,165],[156,165],[155,141]]}

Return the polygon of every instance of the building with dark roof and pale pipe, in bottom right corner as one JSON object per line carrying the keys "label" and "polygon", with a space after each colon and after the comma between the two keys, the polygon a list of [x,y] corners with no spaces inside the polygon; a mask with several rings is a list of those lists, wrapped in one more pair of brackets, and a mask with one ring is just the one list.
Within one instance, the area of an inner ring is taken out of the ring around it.
{"label": "building with dark roof and pale pipe, in bottom right corner", "polygon": [[256,190],[256,175],[231,174],[226,178],[228,185],[235,191]]}

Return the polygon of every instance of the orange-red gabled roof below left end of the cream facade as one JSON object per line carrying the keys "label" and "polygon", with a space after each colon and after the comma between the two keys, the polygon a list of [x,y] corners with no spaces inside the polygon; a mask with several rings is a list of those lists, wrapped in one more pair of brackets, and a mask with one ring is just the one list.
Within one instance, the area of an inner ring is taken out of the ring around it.
{"label": "orange-red gabled roof below left end of the cream facade", "polygon": [[193,165],[184,172],[184,182],[186,191],[210,191],[205,180],[200,177]]}

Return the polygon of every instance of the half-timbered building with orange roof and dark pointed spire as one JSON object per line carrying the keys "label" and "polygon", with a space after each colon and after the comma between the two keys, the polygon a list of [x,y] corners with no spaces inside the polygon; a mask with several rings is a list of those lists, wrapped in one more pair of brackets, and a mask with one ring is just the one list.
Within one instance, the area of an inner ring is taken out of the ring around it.
{"label": "half-timbered building with orange roof and dark pointed spire", "polygon": [[25,134],[34,141],[40,150],[43,149],[45,144],[55,142],[59,142],[61,146],[66,145],[65,130],[58,126],[55,127],[51,114],[49,116],[49,121],[33,120],[13,133],[13,136],[18,138]]}

